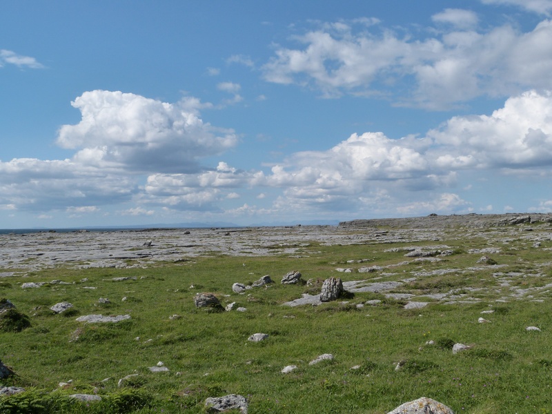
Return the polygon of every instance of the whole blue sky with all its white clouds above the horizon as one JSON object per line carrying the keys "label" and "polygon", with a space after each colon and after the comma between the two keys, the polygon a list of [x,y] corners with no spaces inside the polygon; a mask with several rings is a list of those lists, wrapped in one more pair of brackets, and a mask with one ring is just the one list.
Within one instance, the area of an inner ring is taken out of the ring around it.
{"label": "whole blue sky with all its white clouds above the horizon", "polygon": [[0,7],[0,228],[552,210],[552,0]]}

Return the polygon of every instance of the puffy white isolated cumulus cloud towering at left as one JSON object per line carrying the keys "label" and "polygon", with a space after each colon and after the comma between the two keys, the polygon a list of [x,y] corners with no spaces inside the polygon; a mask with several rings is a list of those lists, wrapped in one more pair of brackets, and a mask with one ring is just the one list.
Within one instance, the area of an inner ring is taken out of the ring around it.
{"label": "puffy white isolated cumulus cloud towering at left", "polygon": [[237,143],[233,131],[205,124],[186,102],[93,90],[71,104],[82,119],[62,126],[57,143],[79,149],[75,159],[82,164],[136,172],[197,172],[198,159]]}

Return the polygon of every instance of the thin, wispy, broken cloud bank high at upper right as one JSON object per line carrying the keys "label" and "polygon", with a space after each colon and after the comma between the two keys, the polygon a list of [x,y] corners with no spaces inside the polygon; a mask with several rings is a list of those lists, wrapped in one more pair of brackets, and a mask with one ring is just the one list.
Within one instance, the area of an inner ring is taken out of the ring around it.
{"label": "thin, wispy, broken cloud bank high at upper right", "polygon": [[[419,38],[372,24],[359,29],[358,22],[324,25],[295,37],[298,48],[279,46],[264,77],[310,85],[326,97],[384,95],[430,109],[482,95],[552,88],[551,21],[530,32],[510,25],[477,32],[477,17],[467,10],[448,9],[433,19],[452,23],[450,30]],[[393,96],[399,81],[410,90],[409,98]]]}

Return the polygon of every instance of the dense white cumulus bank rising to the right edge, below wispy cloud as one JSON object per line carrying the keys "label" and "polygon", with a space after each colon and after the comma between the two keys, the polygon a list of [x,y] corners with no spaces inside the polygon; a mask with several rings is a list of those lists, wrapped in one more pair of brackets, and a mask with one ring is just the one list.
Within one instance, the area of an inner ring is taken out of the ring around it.
{"label": "dense white cumulus bank rising to the right edge, below wispy cloud", "polygon": [[273,166],[264,182],[284,188],[289,203],[336,210],[358,208],[367,195],[400,194],[402,201],[392,197],[395,210],[407,213],[465,207],[450,192],[432,196],[433,201],[407,200],[420,190],[455,186],[466,170],[542,176],[551,165],[552,92],[531,90],[491,115],[453,117],[426,137],[390,139],[366,132],[326,151],[298,152]]}

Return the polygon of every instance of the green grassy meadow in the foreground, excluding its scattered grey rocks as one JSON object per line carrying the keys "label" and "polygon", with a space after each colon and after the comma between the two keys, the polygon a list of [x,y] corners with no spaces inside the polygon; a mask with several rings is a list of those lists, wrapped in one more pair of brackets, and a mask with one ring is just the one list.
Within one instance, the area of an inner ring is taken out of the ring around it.
{"label": "green grassy meadow in the foreground, excluding its scattered grey rocks", "polygon": [[[531,234],[548,231],[549,225],[534,226]],[[30,327],[0,333],[0,359],[16,373],[1,384],[26,388],[1,397],[0,412],[205,413],[206,397],[235,393],[247,398],[249,413],[380,414],[422,396],[455,413],[552,413],[551,237],[537,248],[524,238],[529,232],[509,233],[506,242],[493,232],[482,237],[447,230],[438,241],[415,243],[450,246],[453,254],[440,261],[407,259],[400,249],[413,243],[328,246],[313,239],[293,256],[182,257],[148,268],[77,270],[61,264],[4,277],[0,297],[28,315]],[[469,253],[490,245],[502,250],[489,255],[500,267],[477,264],[482,255]],[[376,265],[392,266],[373,273],[335,270]],[[282,303],[319,293],[320,285],[280,284],[290,270],[299,270],[304,280],[407,282],[391,292],[291,308]],[[232,292],[233,283],[251,284],[263,275],[275,284]],[[69,284],[21,288],[52,280]],[[451,291],[456,303],[421,296]],[[247,311],[195,308],[198,292],[215,293],[223,306],[236,302],[235,308]],[[405,299],[386,293],[431,303],[405,309]],[[110,303],[99,303],[100,297]],[[382,302],[365,304],[371,299]],[[64,301],[74,308],[50,311]],[[89,314],[131,319],[77,322]],[[491,322],[478,323],[480,317]],[[253,333],[269,337],[248,342]],[[434,344],[426,344],[430,340]],[[453,355],[457,342],[473,347]],[[324,353],[334,359],[308,364]],[[150,372],[160,361],[169,371]],[[297,369],[281,373],[288,365]],[[140,375],[118,386],[134,373]],[[97,393],[102,400],[72,402],[67,396],[75,393]]]}

